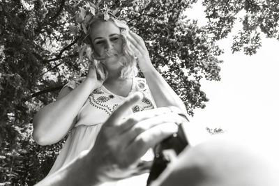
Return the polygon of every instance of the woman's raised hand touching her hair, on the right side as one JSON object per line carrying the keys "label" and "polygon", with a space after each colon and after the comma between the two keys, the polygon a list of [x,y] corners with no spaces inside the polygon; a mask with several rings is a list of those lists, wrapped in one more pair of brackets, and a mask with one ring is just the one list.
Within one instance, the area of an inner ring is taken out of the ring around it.
{"label": "woman's raised hand touching her hair, on the right side", "polygon": [[132,31],[129,31],[127,39],[130,41],[130,47],[134,50],[135,56],[137,56],[140,70],[146,72],[146,70],[153,68],[144,40]]}

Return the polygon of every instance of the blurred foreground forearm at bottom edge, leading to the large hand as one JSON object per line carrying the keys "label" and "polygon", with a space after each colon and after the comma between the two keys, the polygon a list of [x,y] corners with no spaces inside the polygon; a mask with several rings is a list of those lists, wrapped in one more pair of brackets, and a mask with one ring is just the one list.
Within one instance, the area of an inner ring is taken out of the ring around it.
{"label": "blurred foreground forearm at bottom edge, leading to the large hand", "polygon": [[59,186],[75,186],[75,185],[100,185],[98,180],[98,170],[94,166],[88,153],[81,154],[77,159],[73,160],[68,166],[63,167],[52,175],[37,183],[37,186],[59,185]]}

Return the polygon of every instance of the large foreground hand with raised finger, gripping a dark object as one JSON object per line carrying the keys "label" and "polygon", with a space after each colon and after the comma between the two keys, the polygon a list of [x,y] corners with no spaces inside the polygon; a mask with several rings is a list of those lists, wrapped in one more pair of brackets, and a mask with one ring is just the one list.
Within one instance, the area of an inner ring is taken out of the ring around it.
{"label": "large foreground hand with raised finger, gripping a dark object", "polygon": [[181,123],[181,117],[166,107],[138,112],[122,119],[140,98],[140,94],[135,94],[114,111],[89,152],[101,183],[146,172],[150,164],[141,162],[140,157],[178,130],[176,123]]}

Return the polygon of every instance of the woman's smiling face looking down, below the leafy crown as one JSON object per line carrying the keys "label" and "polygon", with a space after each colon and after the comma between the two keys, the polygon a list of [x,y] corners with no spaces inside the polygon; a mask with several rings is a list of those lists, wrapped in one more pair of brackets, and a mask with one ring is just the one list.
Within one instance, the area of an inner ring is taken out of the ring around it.
{"label": "woman's smiling face looking down, below the leafy crown", "polygon": [[123,40],[120,29],[113,22],[98,22],[90,33],[93,50],[105,65],[119,61],[122,54]]}

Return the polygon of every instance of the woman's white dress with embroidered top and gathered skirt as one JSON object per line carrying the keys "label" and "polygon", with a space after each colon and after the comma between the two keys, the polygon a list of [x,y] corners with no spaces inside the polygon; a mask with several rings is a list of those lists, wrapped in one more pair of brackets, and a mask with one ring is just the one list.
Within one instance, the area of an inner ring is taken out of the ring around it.
{"label": "woman's white dress with embroidered top and gathered skirt", "polygon": [[[84,77],[70,81],[64,87],[68,86],[74,89],[83,80]],[[144,98],[137,102],[127,112],[126,116],[128,116],[129,114],[133,114],[133,112],[153,109],[154,107],[156,107],[156,104],[153,101],[145,79],[134,77],[132,82],[132,88],[129,95],[140,91],[144,94]],[[52,169],[47,176],[50,176],[50,174],[58,171],[70,161],[75,159],[75,157],[82,153],[83,150],[89,150],[90,148],[92,148],[98,132],[102,127],[102,124],[105,123],[112,112],[125,100],[126,98],[120,95],[115,95],[114,93],[107,90],[105,86],[101,86],[100,88],[94,90],[89,95],[89,98],[86,100],[79,113],[77,114],[77,123],[75,123],[75,126],[70,130],[68,139],[63,145],[60,154],[56,158],[56,161],[54,162],[54,165],[52,166]],[[151,159],[152,155],[148,158]],[[140,181],[142,182],[140,185],[146,185],[147,176],[148,175],[138,177],[137,183],[140,184]],[[106,185],[130,185],[130,181],[128,180],[123,180],[119,181],[118,183],[110,183]]]}

